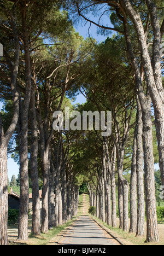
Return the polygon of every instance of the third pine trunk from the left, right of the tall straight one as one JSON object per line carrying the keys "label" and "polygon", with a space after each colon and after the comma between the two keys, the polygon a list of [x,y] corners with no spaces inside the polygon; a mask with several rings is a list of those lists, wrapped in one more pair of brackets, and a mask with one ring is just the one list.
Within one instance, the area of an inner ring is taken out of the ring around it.
{"label": "third pine trunk from the left, right of the tall straight one", "polygon": [[40,197],[38,184],[38,127],[35,108],[34,88],[31,91],[30,120],[31,120],[31,155],[30,172],[32,182],[32,232],[40,235]]}

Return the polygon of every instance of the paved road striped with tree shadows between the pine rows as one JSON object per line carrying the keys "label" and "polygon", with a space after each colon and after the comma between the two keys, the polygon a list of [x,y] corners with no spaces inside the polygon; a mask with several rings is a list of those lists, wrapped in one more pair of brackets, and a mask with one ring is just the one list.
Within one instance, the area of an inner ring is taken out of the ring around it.
{"label": "paved road striped with tree shadows between the pine rows", "polygon": [[81,216],[63,236],[59,245],[119,245],[89,216]]}

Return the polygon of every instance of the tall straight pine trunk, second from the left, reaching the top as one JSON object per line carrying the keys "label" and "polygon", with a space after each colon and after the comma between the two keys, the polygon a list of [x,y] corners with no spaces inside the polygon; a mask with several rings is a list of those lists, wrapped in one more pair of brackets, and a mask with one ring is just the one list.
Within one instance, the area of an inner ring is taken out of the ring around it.
{"label": "tall straight pine trunk, second from the left, reaching the top", "polygon": [[28,240],[28,110],[31,98],[31,59],[30,45],[26,24],[27,7],[22,9],[22,32],[24,36],[25,51],[25,83],[26,90],[24,102],[21,103],[20,121],[19,121],[19,146],[20,146],[20,211],[18,221],[17,240]]}

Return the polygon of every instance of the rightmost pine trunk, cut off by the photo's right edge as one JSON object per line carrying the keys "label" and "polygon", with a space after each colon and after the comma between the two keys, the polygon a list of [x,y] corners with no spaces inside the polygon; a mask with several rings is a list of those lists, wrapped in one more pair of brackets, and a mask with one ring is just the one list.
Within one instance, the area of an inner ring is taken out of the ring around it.
{"label": "rightmost pine trunk, cut off by the photo's right edge", "polygon": [[[164,89],[162,85],[162,75],[161,75],[161,58],[160,58],[160,43],[162,38],[162,30],[160,29],[159,16],[157,15],[157,7],[153,1],[147,0],[147,6],[151,18],[151,26],[153,28],[153,56],[151,60],[151,66],[153,68],[154,80],[158,94],[160,95],[161,101],[158,102],[155,108],[155,126],[156,126],[156,136],[159,151],[159,166],[161,171],[161,182],[164,185]],[[164,24],[164,22],[163,22]],[[163,25],[162,24],[162,25]],[[152,100],[153,97],[158,98],[158,94],[150,95]]]}

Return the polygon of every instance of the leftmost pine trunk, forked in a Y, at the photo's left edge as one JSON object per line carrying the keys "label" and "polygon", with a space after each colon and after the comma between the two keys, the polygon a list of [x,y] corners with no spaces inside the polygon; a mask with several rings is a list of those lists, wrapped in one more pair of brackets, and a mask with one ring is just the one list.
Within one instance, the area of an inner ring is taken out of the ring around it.
{"label": "leftmost pine trunk, forked in a Y, at the photo's left edge", "polygon": [[13,118],[8,130],[4,134],[2,118],[0,113],[0,245],[8,245],[8,168],[7,168],[7,147],[11,136],[15,130],[19,118],[19,94],[16,90],[16,80],[19,66],[20,45],[17,36],[15,18],[11,13],[11,25],[14,34],[15,56],[14,63],[11,65],[11,93],[13,95]]}

